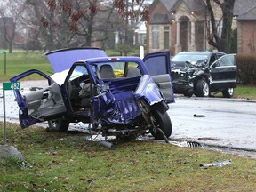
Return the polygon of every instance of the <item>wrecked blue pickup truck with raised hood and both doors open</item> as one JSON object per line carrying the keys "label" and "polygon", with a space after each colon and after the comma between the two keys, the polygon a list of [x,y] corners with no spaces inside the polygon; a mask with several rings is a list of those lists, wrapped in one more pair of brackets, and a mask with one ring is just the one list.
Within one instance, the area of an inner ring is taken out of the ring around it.
{"label": "wrecked blue pickup truck with raised hood and both doors open", "polygon": [[169,52],[139,57],[107,57],[100,49],[77,48],[47,52],[55,72],[36,69],[14,76],[39,74],[48,86],[23,95],[15,90],[21,128],[48,121],[66,132],[83,122],[102,136],[134,139],[150,132],[157,140],[172,134],[168,103],[173,102]]}

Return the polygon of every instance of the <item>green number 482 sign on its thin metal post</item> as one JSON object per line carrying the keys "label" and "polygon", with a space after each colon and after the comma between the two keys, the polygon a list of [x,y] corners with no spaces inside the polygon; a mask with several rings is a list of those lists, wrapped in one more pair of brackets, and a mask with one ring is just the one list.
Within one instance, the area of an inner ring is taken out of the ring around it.
{"label": "green number 482 sign on its thin metal post", "polygon": [[20,82],[3,83],[3,108],[4,108],[4,144],[7,143],[6,115],[5,115],[5,90],[20,90]]}

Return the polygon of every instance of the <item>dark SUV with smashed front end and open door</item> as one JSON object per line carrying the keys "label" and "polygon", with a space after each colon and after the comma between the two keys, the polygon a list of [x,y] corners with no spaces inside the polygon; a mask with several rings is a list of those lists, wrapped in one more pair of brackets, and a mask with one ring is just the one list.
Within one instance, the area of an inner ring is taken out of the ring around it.
{"label": "dark SUV with smashed front end and open door", "polygon": [[236,54],[180,52],[171,60],[174,93],[207,97],[211,92],[233,96],[236,88]]}

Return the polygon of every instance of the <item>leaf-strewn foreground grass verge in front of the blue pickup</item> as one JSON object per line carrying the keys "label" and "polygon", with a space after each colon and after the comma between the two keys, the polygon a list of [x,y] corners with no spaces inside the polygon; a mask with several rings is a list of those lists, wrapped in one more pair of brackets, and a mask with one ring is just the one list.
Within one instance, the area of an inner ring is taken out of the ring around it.
{"label": "leaf-strewn foreground grass verge in front of the blue pickup", "polygon": [[[7,130],[9,145],[26,162],[0,160],[0,191],[256,190],[254,159],[140,140],[112,140],[115,147],[109,150],[81,132],[21,130],[18,124],[7,124]],[[199,166],[227,159],[231,165]]]}

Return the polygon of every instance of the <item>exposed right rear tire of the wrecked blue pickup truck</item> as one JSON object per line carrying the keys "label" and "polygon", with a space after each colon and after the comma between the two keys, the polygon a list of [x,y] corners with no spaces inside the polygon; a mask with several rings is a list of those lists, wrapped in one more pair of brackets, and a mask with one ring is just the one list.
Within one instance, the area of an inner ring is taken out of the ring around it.
{"label": "exposed right rear tire of the wrecked blue pickup truck", "polygon": [[[153,115],[156,118],[156,127],[160,128],[164,135],[169,138],[172,134],[172,122],[170,116],[165,112],[164,114],[160,113],[158,110],[153,112]],[[161,132],[154,132],[150,130],[151,134],[155,137],[156,140],[164,140],[164,137]]]}

